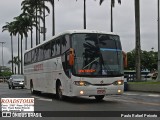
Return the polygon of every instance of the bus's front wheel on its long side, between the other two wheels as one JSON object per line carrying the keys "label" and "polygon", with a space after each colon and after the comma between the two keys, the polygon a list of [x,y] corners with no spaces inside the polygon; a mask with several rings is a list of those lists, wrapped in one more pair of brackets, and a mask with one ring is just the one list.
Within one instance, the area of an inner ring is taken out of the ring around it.
{"label": "bus's front wheel on its long side, between the other two wheels", "polygon": [[59,100],[63,100],[62,85],[60,82],[56,84],[56,96]]}

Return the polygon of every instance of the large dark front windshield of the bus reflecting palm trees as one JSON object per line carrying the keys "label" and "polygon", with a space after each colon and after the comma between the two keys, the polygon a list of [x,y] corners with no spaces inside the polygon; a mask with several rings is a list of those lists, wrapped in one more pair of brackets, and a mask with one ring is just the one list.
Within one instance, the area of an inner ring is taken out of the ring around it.
{"label": "large dark front windshield of the bus reflecting palm trees", "polygon": [[77,76],[122,76],[123,57],[118,35],[80,33],[71,37]]}

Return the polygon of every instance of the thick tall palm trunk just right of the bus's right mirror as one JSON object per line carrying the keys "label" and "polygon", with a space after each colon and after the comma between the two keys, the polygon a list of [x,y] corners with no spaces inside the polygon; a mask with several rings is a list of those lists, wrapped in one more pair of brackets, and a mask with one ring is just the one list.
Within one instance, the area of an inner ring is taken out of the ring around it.
{"label": "thick tall palm trunk just right of the bus's right mirror", "polygon": [[140,2],[135,0],[136,81],[141,80]]}

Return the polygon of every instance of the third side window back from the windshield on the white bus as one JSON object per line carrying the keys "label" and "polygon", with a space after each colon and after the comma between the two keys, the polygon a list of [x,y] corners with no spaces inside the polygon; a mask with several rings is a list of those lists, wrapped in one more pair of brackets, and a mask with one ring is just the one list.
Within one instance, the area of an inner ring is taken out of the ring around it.
{"label": "third side window back from the windshield on the white bus", "polygon": [[51,57],[51,42],[48,42],[44,45],[43,53],[44,53],[44,59],[48,59]]}

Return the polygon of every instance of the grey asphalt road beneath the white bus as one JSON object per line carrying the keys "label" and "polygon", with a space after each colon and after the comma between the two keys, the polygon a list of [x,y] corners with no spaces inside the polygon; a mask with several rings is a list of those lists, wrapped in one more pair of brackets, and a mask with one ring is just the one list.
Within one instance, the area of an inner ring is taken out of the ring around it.
{"label": "grey asphalt road beneath the white bus", "polygon": [[[87,111],[87,114],[95,117],[99,117],[101,114],[104,117],[105,114],[112,114],[111,116],[113,117],[114,113],[115,115],[117,114],[117,111],[122,112],[122,114],[125,113],[125,111],[145,111],[146,113],[148,111],[152,111],[152,113],[160,111],[160,94],[158,93],[127,91],[124,92],[122,96],[106,96],[101,102],[97,102],[94,97],[66,97],[64,101],[59,101],[55,95],[52,94],[41,93],[32,95],[30,90],[20,88],[12,90],[8,89],[6,83],[0,83],[0,98],[34,98],[34,110],[51,111],[51,116],[57,114],[55,111],[62,111],[58,114],[62,116],[67,114],[70,117],[72,117],[72,115],[76,116],[75,114],[78,116],[78,113],[85,115],[84,111]],[[106,113],[103,114],[101,112]],[[82,117],[79,119],[82,119]]]}

